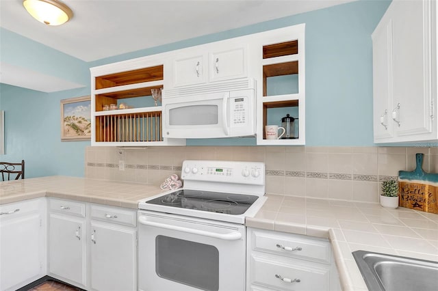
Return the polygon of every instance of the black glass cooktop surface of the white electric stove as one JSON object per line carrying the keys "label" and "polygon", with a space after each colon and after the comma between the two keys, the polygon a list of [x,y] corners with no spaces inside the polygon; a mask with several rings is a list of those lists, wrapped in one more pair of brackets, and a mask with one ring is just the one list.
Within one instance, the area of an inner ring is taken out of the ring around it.
{"label": "black glass cooktop surface of the white electric stove", "polygon": [[244,214],[257,198],[255,195],[184,189],[151,199],[146,204],[238,215]]}

